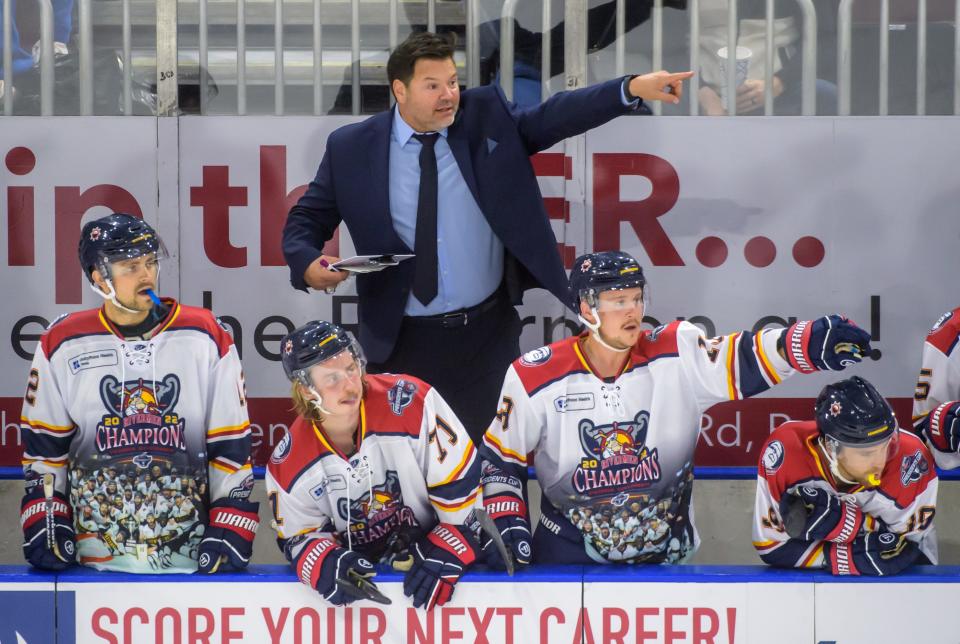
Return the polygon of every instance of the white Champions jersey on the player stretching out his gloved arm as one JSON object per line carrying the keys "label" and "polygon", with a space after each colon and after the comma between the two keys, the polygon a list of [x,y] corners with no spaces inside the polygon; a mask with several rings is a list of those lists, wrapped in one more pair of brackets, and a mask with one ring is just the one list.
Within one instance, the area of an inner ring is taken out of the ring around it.
{"label": "white Champions jersey on the player stretching out his gloved arm", "polygon": [[[793,373],[777,353],[782,333],[708,339],[689,322],[673,322],[644,332],[623,372],[607,380],[594,375],[582,352],[585,336],[525,354],[507,370],[500,410],[484,436],[484,480],[491,481],[484,494],[505,486],[521,494],[516,482],[535,461],[544,498],[578,528],[592,559],[687,557],[699,545],[690,495],[700,417]],[[602,537],[607,524],[614,528],[610,547]],[[546,528],[541,521],[537,529]],[[670,548],[671,538],[679,548]]]}

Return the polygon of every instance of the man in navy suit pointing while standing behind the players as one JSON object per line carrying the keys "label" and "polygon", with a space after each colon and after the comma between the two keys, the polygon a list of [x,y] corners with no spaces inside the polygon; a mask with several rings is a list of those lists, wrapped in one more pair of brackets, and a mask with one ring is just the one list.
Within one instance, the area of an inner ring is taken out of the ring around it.
{"label": "man in navy suit pointing while standing behind the players", "polygon": [[322,248],[341,221],[358,254],[415,253],[357,278],[369,370],[409,373],[443,395],[476,441],[520,354],[514,305],[530,288],[566,301],[566,274],[530,156],[644,101],[678,102],[692,72],[626,76],[521,108],[496,86],[460,91],[447,38],[417,33],[387,62],[396,106],[334,131],[290,210],[291,282],[346,273]]}

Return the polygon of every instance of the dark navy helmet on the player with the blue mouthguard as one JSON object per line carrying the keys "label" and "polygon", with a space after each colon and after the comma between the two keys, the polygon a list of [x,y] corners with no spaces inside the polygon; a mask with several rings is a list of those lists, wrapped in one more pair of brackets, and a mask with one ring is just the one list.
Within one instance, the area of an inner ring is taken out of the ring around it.
{"label": "dark navy helmet on the player with the blue mouthguard", "polygon": [[94,269],[109,278],[112,262],[148,253],[156,253],[158,259],[167,256],[163,241],[150,224],[122,212],[87,222],[80,231],[78,251],[80,265],[91,282]]}

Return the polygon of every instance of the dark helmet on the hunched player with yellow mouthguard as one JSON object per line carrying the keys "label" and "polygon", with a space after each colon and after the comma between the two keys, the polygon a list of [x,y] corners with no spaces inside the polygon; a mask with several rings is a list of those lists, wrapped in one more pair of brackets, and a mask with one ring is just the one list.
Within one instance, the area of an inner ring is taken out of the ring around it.
{"label": "dark helmet on the hunched player with yellow mouthguard", "polygon": [[897,434],[890,403],[860,376],[824,387],[815,410],[820,433],[841,445],[864,447]]}

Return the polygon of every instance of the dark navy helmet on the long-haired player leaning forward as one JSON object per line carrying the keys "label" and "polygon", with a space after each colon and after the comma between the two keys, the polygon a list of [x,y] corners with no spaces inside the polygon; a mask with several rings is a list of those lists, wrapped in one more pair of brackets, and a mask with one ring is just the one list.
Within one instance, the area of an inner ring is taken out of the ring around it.
{"label": "dark navy helmet on the long-haired player leaning forward", "polygon": [[314,320],[294,329],[280,343],[283,371],[291,382],[311,386],[310,367],[349,351],[363,369],[367,361],[353,335],[333,322]]}

